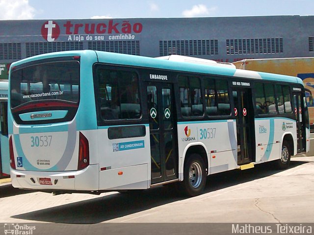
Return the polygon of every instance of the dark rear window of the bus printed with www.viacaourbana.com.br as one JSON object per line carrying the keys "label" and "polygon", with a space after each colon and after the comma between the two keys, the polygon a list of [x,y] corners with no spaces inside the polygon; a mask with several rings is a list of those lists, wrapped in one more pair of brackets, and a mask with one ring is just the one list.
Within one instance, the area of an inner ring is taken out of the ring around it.
{"label": "dark rear window of the bus printed with www.viacaourbana.com.br", "polygon": [[58,61],[28,66],[11,73],[11,108],[50,99],[78,103],[79,62]]}

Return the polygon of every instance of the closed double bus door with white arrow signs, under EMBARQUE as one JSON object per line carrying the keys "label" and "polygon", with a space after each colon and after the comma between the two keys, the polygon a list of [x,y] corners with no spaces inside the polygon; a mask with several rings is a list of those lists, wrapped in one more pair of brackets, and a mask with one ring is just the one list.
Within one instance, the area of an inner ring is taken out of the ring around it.
{"label": "closed double bus door with white arrow signs, under EMBARQUE", "polygon": [[177,119],[173,86],[147,84],[151,142],[151,184],[178,178]]}

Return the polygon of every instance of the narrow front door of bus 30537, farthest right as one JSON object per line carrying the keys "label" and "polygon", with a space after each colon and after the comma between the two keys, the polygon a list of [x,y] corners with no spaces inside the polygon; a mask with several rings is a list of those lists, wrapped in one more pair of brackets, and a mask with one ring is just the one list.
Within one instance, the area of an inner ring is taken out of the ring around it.
{"label": "narrow front door of bus 30537, farthest right", "polygon": [[305,112],[302,93],[293,92],[294,115],[296,120],[297,153],[306,151]]}

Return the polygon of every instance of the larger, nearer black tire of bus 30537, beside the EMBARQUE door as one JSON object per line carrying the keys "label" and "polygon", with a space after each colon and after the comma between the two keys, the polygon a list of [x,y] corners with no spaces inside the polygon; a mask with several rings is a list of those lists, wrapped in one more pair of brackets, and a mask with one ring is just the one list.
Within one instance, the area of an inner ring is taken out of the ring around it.
{"label": "larger, nearer black tire of bus 30537, beside the EMBARQUE door", "polygon": [[207,173],[205,163],[199,154],[187,156],[183,168],[183,181],[180,182],[180,189],[187,196],[202,194],[206,185]]}

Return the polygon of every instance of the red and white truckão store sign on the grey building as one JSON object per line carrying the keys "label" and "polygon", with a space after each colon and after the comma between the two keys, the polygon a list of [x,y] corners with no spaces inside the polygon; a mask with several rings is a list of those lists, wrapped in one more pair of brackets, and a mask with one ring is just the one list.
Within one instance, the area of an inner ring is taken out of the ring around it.
{"label": "red and white truck\u00e3o store sign on the grey building", "polygon": [[[48,42],[54,42],[62,35],[67,36],[67,41],[103,41],[103,40],[132,40],[135,34],[143,30],[143,24],[129,21],[115,22],[109,20],[101,23],[73,24],[67,21],[60,29],[55,21],[46,21],[41,27],[41,35]],[[95,35],[96,34],[96,35]]]}

